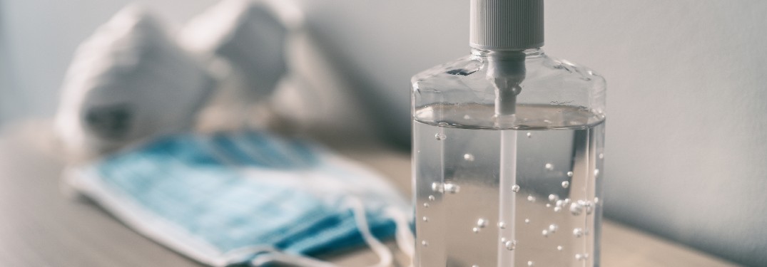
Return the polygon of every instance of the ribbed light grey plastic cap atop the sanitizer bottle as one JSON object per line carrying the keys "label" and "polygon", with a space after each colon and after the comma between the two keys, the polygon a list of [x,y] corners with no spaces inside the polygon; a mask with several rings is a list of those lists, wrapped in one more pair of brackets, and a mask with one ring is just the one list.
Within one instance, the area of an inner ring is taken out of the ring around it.
{"label": "ribbed light grey plastic cap atop the sanitizer bottle", "polygon": [[482,50],[543,46],[543,0],[471,0],[469,45]]}

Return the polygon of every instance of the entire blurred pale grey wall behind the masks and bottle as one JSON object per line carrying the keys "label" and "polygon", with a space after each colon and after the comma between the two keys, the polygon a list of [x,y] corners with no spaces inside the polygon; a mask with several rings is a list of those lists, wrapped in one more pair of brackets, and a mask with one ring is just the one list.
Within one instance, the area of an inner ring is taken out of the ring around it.
{"label": "entire blurred pale grey wall behind the masks and bottle", "polygon": [[[0,128],[51,119],[77,45],[129,2],[0,0]],[[216,2],[145,4],[175,33]],[[297,4],[288,67],[311,99],[278,106],[318,135],[407,150],[410,76],[469,53],[468,1]],[[767,264],[765,14],[759,0],[546,2],[543,49],[607,79],[607,218]]]}

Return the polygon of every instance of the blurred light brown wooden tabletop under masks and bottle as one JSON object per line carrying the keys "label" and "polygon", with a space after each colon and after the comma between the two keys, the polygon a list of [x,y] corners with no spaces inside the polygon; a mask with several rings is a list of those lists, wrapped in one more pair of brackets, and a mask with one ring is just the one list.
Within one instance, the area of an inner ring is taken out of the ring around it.
{"label": "blurred light brown wooden tabletop under masks and bottle", "polygon": [[[48,125],[25,124],[0,135],[0,266],[199,266],[67,193],[59,181],[63,160],[54,152]],[[410,155],[339,150],[392,178],[410,195]],[[377,262],[367,249],[324,258],[350,267]],[[401,254],[397,259],[407,261]],[[603,228],[602,265],[735,266],[609,220]]]}

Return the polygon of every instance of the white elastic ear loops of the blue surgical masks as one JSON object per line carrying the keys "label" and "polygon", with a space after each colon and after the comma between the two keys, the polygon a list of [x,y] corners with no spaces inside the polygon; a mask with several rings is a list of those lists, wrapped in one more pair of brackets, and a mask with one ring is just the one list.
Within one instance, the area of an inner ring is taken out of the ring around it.
{"label": "white elastic ear loops of the blue surgical masks", "polygon": [[[375,236],[373,236],[373,233],[370,233],[370,226],[367,224],[367,215],[365,213],[364,205],[362,204],[362,201],[360,201],[357,198],[348,198],[347,203],[348,206],[351,207],[352,213],[354,213],[354,221],[357,223],[357,229],[360,230],[360,234],[362,235],[362,238],[364,239],[365,243],[367,243],[367,246],[370,247],[373,252],[376,253],[378,256],[379,262],[375,265],[370,265],[369,267],[388,267],[392,265],[393,262],[393,256],[391,254],[391,251],[389,248],[387,248],[384,243],[381,243],[380,240],[378,240]],[[404,218],[402,214],[400,213],[400,218]],[[406,222],[404,226],[407,226],[407,220],[403,220]],[[400,231],[400,228],[403,227],[400,225],[400,223],[395,220],[395,223],[397,223],[397,231]],[[410,227],[404,228],[408,232],[410,232]],[[410,233],[412,236],[412,233]],[[400,246],[400,237],[397,236],[397,246]],[[413,245],[411,244],[410,247]],[[406,252],[407,253],[407,252]],[[412,258],[412,256],[411,256]],[[295,255],[295,254],[287,254],[285,252],[280,252],[278,250],[271,250],[268,253],[262,254],[257,256],[255,259],[253,259],[250,264],[255,266],[262,266],[262,265],[268,265],[268,263],[274,263],[274,262],[281,262],[285,264],[291,264],[291,265],[297,265],[302,267],[338,267],[338,265],[334,265],[331,262],[323,262],[318,259],[313,259],[308,256],[301,256],[301,255]]]}

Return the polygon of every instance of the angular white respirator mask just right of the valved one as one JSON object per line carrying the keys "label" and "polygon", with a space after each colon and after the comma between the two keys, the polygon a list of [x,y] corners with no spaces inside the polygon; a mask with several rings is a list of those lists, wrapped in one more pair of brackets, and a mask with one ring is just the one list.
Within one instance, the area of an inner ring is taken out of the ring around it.
{"label": "angular white respirator mask just right of the valved one", "polygon": [[212,70],[239,80],[242,88],[236,90],[252,100],[272,95],[288,72],[288,34],[301,27],[302,19],[287,0],[225,0],[189,21],[179,42],[203,58],[222,60],[228,67],[219,61]]}

